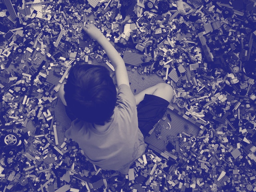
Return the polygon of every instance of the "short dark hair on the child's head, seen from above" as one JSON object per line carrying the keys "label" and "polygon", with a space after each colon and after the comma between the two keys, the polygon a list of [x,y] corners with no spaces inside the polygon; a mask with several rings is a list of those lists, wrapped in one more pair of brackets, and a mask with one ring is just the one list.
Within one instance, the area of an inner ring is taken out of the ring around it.
{"label": "short dark hair on the child's head, seen from above", "polygon": [[64,85],[64,98],[70,111],[82,121],[104,125],[113,115],[116,87],[106,67],[75,64]]}

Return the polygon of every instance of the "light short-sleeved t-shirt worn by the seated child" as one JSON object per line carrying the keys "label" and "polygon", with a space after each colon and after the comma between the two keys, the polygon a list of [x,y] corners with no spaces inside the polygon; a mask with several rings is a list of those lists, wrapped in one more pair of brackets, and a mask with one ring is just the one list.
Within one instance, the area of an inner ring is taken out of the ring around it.
{"label": "light short-sleeved t-shirt worn by the seated child", "polygon": [[119,86],[114,119],[105,132],[76,119],[65,136],[78,143],[91,163],[123,174],[127,174],[131,163],[145,152],[144,138],[138,128],[135,98],[125,84]]}

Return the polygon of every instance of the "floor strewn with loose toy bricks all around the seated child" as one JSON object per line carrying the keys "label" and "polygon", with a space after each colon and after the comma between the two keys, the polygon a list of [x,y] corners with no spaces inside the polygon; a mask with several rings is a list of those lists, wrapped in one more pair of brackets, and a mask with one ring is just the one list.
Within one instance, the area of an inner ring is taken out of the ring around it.
{"label": "floor strewn with loose toy bricks all around the seated child", "polygon": [[[0,191],[256,191],[255,22],[255,0],[0,0]],[[121,54],[134,94],[175,90],[128,175],[64,137],[69,67],[112,71],[85,23]]]}

